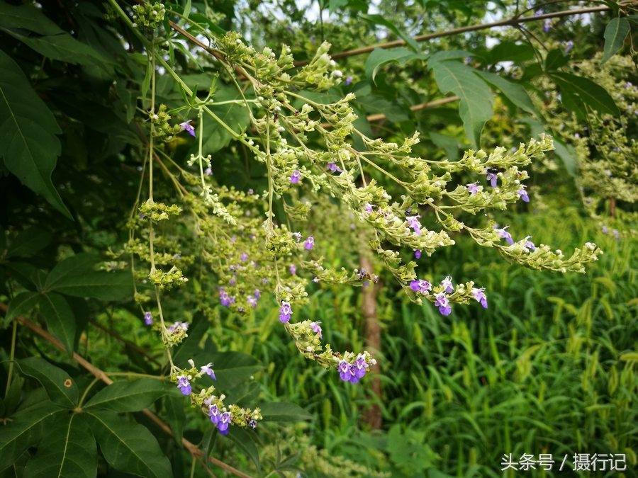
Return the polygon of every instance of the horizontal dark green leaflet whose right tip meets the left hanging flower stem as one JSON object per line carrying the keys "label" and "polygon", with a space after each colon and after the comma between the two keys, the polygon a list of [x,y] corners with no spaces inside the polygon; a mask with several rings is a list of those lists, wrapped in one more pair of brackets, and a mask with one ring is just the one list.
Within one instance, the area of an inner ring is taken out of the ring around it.
{"label": "horizontal dark green leaflet whose right tip meets the left hanging flower stem", "polygon": [[130,272],[97,271],[82,275],[66,275],[50,290],[74,297],[95,297],[102,300],[121,300],[133,296],[133,275]]}

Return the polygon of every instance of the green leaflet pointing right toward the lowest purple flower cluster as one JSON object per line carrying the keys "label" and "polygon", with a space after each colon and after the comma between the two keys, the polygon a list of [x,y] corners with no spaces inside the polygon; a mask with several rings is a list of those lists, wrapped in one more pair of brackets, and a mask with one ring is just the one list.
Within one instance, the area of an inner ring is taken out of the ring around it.
{"label": "green leaflet pointing right toward the lowest purple flower cluster", "polygon": [[171,392],[179,393],[177,387],[167,385],[155,378],[140,378],[133,382],[114,382],[97,392],[84,409],[108,409],[113,411],[140,411],[148,408],[159,397]]}

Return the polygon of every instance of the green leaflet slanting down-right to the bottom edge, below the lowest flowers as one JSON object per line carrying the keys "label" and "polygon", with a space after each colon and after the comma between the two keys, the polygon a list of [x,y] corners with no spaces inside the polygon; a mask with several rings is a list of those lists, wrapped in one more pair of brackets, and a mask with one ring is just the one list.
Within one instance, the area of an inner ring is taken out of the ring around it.
{"label": "green leaflet slanting down-right to the bottom edge, below the lowest flowers", "polygon": [[173,476],[168,458],[145,426],[123,421],[113,411],[91,411],[86,421],[102,455],[116,470],[146,478]]}

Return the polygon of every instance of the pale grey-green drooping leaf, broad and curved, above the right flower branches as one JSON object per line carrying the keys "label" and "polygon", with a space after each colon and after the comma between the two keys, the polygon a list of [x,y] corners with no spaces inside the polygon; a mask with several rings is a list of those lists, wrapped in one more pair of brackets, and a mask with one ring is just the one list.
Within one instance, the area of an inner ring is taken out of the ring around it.
{"label": "pale grey-green drooping leaf, broad and curved, above the right flower branches", "polygon": [[484,81],[477,81],[476,70],[456,61],[432,62],[430,68],[442,93],[454,92],[461,98],[459,115],[467,139],[478,149],[481,130],[494,113],[493,98]]}

